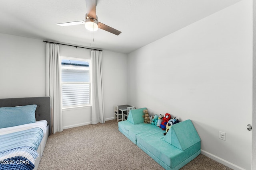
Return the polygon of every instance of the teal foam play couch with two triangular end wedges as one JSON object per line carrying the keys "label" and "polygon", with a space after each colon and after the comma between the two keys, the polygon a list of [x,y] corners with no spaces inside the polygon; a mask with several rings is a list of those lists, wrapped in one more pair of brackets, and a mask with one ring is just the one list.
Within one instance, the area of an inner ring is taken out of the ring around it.
{"label": "teal foam play couch with two triangular end wedges", "polygon": [[144,123],[143,110],[132,109],[118,130],[166,170],[178,170],[201,153],[201,139],[191,120],[172,125],[168,133]]}

